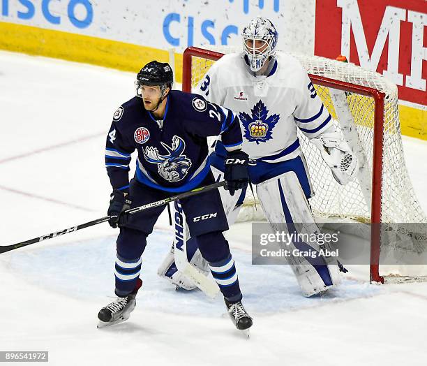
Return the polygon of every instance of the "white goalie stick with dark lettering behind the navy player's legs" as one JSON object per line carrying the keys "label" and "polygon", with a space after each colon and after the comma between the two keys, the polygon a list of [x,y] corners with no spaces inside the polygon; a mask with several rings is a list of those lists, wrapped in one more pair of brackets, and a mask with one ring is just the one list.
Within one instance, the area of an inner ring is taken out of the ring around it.
{"label": "white goalie stick with dark lettering behind the navy player's legs", "polygon": [[174,260],[177,269],[190,278],[195,285],[206,293],[209,298],[215,298],[218,295],[219,287],[209,279],[203,272],[195,268],[188,262],[187,258],[187,235],[186,235],[186,220],[182,212],[181,205],[178,200],[175,201],[174,215],[175,235],[174,235]]}

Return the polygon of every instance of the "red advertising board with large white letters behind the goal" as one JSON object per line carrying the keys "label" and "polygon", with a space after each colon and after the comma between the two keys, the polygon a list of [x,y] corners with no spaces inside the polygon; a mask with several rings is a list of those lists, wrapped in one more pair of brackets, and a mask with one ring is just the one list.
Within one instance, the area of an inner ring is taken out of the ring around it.
{"label": "red advertising board with large white letters behind the goal", "polygon": [[315,54],[343,54],[398,85],[399,99],[424,105],[426,1],[316,0]]}

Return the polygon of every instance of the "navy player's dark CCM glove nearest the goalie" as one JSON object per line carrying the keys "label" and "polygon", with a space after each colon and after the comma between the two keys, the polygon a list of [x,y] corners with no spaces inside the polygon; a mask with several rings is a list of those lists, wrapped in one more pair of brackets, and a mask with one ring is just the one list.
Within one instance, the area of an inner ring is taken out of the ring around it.
{"label": "navy player's dark CCM glove nearest the goalie", "polygon": [[235,150],[227,153],[224,171],[224,180],[227,182],[225,189],[230,191],[232,196],[234,196],[235,191],[248,185],[248,162],[249,156],[246,152]]}

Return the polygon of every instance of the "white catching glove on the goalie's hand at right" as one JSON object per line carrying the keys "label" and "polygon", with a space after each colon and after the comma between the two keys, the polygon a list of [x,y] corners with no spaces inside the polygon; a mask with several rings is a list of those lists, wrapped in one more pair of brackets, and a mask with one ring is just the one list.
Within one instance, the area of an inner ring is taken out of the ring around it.
{"label": "white catching glove on the goalie's hand at right", "polygon": [[331,168],[335,180],[345,185],[354,181],[359,170],[359,162],[342,134],[332,126],[311,142],[320,149],[322,159]]}

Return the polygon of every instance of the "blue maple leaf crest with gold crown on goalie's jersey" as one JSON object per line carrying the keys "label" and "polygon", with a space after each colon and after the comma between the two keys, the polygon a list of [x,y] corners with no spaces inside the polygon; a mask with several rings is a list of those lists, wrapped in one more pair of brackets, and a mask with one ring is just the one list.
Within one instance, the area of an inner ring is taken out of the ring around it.
{"label": "blue maple leaf crest with gold crown on goalie's jersey", "polygon": [[271,140],[274,126],[276,126],[280,115],[269,116],[267,107],[260,100],[250,110],[252,116],[245,112],[239,113],[241,124],[244,126],[244,137],[249,142],[267,142]]}

